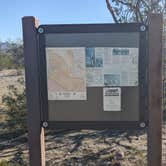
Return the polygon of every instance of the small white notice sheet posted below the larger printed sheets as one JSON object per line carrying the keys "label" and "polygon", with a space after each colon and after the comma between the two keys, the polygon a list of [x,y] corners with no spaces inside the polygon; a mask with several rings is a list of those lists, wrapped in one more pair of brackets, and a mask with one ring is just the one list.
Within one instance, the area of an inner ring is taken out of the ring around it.
{"label": "small white notice sheet posted below the larger printed sheets", "polygon": [[121,111],[121,88],[103,88],[104,111]]}

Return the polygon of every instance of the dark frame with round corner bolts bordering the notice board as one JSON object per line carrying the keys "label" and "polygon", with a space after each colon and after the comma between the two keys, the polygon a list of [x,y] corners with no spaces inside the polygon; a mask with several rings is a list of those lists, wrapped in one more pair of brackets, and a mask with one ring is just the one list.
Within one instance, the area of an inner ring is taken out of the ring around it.
{"label": "dark frame with round corner bolts bordering the notice board", "polygon": [[[47,122],[49,128],[59,129],[143,129],[148,125],[147,119],[147,79],[148,73],[148,57],[147,57],[147,30],[144,24],[72,24],[72,25],[40,25],[38,29],[42,29],[39,34],[39,60],[40,77],[41,77],[41,103],[42,103],[42,122]],[[144,29],[142,29],[144,28]],[[46,52],[45,52],[45,34],[58,33],[121,33],[121,32],[138,32],[139,33],[139,121],[49,121],[48,119],[48,95],[47,95],[47,72],[46,72]],[[142,123],[145,125],[143,126]],[[142,125],[142,126],[141,126]]]}

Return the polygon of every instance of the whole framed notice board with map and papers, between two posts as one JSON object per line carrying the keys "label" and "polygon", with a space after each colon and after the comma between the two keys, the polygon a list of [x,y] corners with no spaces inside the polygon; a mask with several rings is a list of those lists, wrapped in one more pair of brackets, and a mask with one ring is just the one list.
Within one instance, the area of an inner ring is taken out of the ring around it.
{"label": "whole framed notice board with map and papers, between two posts", "polygon": [[144,32],[140,24],[41,29],[42,121],[56,128],[121,128],[119,123],[140,128],[147,101],[141,97],[147,86],[146,27]]}

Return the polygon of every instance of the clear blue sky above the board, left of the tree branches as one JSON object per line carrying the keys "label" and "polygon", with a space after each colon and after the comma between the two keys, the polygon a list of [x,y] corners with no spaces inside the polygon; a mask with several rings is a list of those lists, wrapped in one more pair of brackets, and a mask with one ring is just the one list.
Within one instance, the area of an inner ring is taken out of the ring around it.
{"label": "clear blue sky above the board, left of the tree branches", "polygon": [[23,16],[40,24],[111,23],[105,0],[1,0],[0,41],[22,39]]}

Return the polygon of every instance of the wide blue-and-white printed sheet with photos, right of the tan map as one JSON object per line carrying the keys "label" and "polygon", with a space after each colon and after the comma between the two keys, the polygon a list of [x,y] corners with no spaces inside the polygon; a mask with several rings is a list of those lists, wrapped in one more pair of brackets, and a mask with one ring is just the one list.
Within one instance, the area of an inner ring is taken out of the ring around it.
{"label": "wide blue-and-white printed sheet with photos, right of the tan map", "polygon": [[87,86],[138,86],[138,48],[86,48]]}

